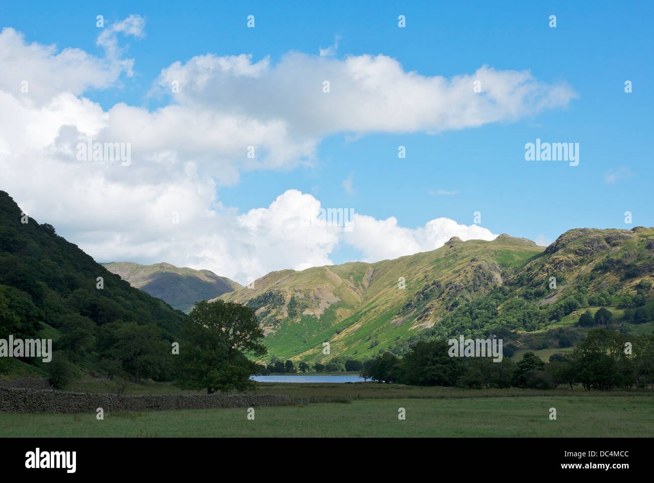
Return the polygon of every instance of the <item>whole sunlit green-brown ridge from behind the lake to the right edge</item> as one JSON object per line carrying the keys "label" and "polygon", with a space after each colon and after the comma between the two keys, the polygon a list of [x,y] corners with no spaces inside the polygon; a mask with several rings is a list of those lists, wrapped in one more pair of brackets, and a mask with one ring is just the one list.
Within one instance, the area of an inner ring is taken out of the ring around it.
{"label": "whole sunlit green-brown ridge from behind the lake to the right edge", "polygon": [[326,361],[387,349],[402,355],[434,336],[547,334],[599,306],[630,323],[632,312],[649,313],[653,273],[654,228],[581,228],[547,248],[506,234],[490,242],[455,237],[396,260],[271,272],[220,298],[256,310],[270,356]]}

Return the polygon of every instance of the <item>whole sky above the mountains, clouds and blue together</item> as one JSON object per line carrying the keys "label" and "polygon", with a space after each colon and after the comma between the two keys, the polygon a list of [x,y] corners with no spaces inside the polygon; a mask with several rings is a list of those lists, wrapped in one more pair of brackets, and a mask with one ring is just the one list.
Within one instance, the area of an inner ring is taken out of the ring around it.
{"label": "whole sky above the mountains, clouds and blue together", "polygon": [[[240,283],[653,226],[653,10],[4,2],[0,189],[99,262]],[[527,159],[536,139],[578,164]],[[323,226],[330,208],[353,216]]]}

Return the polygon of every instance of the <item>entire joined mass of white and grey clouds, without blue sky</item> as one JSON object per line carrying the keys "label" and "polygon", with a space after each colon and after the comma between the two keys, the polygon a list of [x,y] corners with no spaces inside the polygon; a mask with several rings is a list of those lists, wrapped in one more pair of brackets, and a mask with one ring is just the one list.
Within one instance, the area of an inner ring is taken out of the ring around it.
{"label": "entire joined mass of white and grey clouds, without blue sky", "polygon": [[[316,226],[320,201],[297,190],[239,213],[216,192],[243,170],[318,162],[326,135],[462,129],[566,107],[575,96],[526,71],[481,67],[446,79],[407,72],[383,55],[336,58],[335,43],[322,56],[291,52],[276,65],[245,54],[196,56],[156,80],[152,92],[171,103],[105,111],[84,93],[133,74],[121,42],[143,38],[144,26],[130,16],[105,27],[97,39],[103,56],[27,43],[10,28],[0,33],[0,188],[100,261],[167,261],[245,283],[330,264],[339,244],[376,261],[435,249],[452,236],[490,240],[485,228],[443,218],[411,229],[356,213],[352,230]],[[131,164],[78,160],[77,145],[88,141],[129,143]],[[354,192],[353,175],[343,188]]]}

